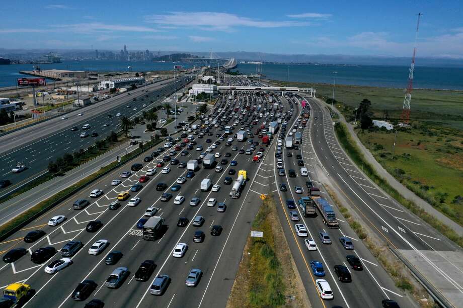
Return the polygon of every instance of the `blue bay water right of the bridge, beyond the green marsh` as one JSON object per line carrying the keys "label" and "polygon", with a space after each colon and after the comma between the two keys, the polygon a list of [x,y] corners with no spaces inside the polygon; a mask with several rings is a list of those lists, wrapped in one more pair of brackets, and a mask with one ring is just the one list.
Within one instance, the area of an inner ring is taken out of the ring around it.
{"label": "blue bay water right of the bridge, beyond the green marsh", "polygon": [[[235,70],[255,74],[256,64],[238,64]],[[298,82],[367,85],[406,88],[409,66],[381,65],[287,65],[263,64],[262,74],[274,80]],[[414,88],[463,90],[463,68],[415,66]]]}

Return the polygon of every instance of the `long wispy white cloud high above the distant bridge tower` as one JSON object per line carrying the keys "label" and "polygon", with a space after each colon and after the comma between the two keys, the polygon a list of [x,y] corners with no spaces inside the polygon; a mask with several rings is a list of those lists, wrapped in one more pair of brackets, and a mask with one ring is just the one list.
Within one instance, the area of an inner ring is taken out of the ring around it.
{"label": "long wispy white cloud high above the distant bridge tower", "polygon": [[235,14],[216,12],[170,12],[168,15],[146,16],[145,21],[164,27],[197,27],[214,31],[231,31],[234,27],[279,28],[309,25],[307,22],[262,21]]}

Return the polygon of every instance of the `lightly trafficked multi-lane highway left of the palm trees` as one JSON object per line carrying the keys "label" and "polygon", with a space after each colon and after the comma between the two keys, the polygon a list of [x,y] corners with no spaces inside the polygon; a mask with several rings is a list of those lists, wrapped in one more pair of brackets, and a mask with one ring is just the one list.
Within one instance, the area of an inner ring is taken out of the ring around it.
{"label": "lightly trafficked multi-lane highway left of the palm trees", "polygon": [[[180,77],[179,80],[177,88],[191,81],[188,76]],[[148,89],[149,91],[145,91]],[[124,93],[66,114],[66,120],[58,117],[0,137],[0,179],[8,179],[13,184],[3,188],[0,194],[6,194],[22,183],[43,174],[48,163],[57,157],[81,149],[86,150],[96,140],[106,138],[111,131],[118,131],[120,117],[116,117],[117,113],[120,113],[121,117],[133,118],[173,92],[172,81],[143,86],[130,91],[130,95]],[[83,130],[85,124],[89,124],[90,129]],[[71,131],[72,127],[77,127],[78,130]],[[89,136],[81,138],[82,132],[87,132]],[[94,132],[98,136],[91,137]],[[17,164],[24,164],[27,169],[20,173],[12,173],[11,170]]]}

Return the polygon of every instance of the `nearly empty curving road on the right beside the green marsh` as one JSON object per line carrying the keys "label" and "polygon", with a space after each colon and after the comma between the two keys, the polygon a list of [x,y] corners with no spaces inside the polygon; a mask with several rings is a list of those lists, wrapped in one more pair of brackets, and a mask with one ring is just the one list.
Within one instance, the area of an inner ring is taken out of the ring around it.
{"label": "nearly empty curving road on the right beside the green marsh", "polygon": [[440,289],[448,301],[457,305],[463,299],[461,249],[409,213],[363,175],[338,144],[327,111],[316,100],[309,101],[314,117],[311,141],[316,145],[315,154],[332,182],[380,238],[415,262],[427,283]]}

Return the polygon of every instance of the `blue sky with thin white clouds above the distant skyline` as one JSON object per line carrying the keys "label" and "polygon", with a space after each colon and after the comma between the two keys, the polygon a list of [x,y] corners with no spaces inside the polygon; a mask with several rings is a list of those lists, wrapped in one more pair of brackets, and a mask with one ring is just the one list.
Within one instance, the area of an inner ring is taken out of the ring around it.
{"label": "blue sky with thin white clouds above the distant skyline", "polygon": [[[222,4],[224,3],[224,4]],[[463,58],[461,1],[3,2],[3,48]]]}

